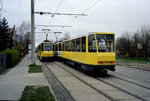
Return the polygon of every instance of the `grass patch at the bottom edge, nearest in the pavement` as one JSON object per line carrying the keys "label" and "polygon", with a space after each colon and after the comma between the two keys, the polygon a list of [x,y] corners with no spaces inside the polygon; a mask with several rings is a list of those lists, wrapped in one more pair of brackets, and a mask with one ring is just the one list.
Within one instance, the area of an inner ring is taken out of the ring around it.
{"label": "grass patch at the bottom edge, nearest in the pavement", "polygon": [[55,101],[48,86],[26,86],[20,101]]}

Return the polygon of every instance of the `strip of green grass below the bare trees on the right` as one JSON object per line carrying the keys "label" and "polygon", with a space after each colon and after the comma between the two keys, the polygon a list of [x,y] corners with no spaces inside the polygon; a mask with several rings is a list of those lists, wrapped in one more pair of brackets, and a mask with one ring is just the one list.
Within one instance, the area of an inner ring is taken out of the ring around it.
{"label": "strip of green grass below the bare trees on the right", "polygon": [[124,62],[124,63],[150,63],[150,58],[148,58],[148,60],[145,60],[144,58],[140,58],[140,57],[134,57],[134,58],[130,58],[130,57],[125,57],[125,56],[121,56],[121,57],[117,57],[116,58],[117,62]]}

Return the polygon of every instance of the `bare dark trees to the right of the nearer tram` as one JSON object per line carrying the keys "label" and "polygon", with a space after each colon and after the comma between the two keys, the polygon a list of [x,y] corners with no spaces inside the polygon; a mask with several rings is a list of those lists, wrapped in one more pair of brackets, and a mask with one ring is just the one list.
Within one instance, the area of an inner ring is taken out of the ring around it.
{"label": "bare dark trees to the right of the nearer tram", "polygon": [[129,57],[150,57],[150,27],[141,26],[134,32],[124,32],[116,39],[116,49],[118,55]]}

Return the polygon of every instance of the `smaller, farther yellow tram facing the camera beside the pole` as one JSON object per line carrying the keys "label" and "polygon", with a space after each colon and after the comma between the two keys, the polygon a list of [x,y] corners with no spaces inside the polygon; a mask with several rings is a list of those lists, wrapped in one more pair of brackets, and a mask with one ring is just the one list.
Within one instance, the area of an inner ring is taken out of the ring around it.
{"label": "smaller, farther yellow tram facing the camera beside the pole", "polygon": [[37,47],[37,56],[40,60],[47,60],[54,57],[54,43],[42,42]]}

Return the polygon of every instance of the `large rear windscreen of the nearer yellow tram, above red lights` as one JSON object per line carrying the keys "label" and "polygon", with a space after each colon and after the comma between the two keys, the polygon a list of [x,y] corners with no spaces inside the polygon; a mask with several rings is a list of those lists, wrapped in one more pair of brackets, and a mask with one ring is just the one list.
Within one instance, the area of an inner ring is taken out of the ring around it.
{"label": "large rear windscreen of the nearer yellow tram, above red lights", "polygon": [[98,52],[114,52],[114,35],[97,34]]}

